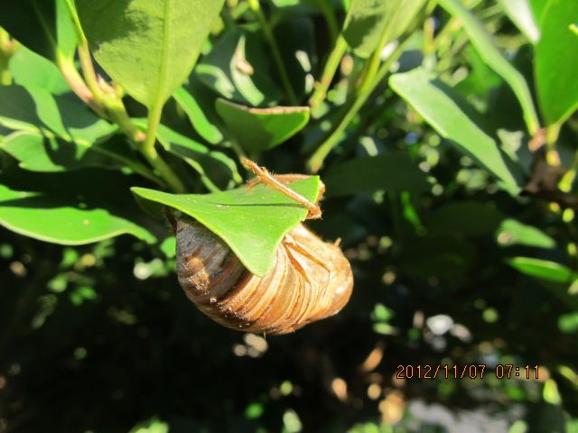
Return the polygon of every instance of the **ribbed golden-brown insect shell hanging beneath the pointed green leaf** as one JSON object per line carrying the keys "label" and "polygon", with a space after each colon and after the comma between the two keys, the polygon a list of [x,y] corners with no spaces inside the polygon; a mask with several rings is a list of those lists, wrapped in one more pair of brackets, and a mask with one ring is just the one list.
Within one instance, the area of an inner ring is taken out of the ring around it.
{"label": "ribbed golden-brown insect shell hanging beneath the pointed green leaf", "polygon": [[187,297],[225,327],[286,334],[328,318],[350,299],[350,263],[335,244],[305,226],[285,236],[271,272],[247,271],[217,235],[198,222],[177,222],[177,273]]}

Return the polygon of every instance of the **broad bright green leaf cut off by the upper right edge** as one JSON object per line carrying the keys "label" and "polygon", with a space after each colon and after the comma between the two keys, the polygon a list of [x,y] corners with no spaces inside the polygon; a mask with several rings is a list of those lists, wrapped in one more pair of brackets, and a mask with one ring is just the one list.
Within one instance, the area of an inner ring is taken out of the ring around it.
{"label": "broad bright green leaf cut off by the upper right edge", "polygon": [[578,2],[549,0],[539,18],[536,91],[547,124],[562,124],[578,108],[578,36],[570,30],[577,16]]}

